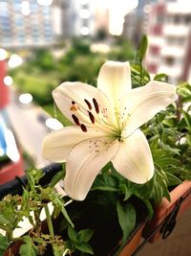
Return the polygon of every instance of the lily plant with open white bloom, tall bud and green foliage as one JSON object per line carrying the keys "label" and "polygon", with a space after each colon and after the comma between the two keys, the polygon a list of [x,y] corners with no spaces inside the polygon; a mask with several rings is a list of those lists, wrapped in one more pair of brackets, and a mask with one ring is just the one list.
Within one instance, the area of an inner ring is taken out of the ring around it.
{"label": "lily plant with open white bloom, tall bud and green foliage", "polygon": [[[126,222],[122,220],[129,198],[140,198],[151,217],[153,205],[159,205],[163,197],[170,201],[170,189],[190,178],[190,160],[186,157],[190,110],[173,105],[177,99],[175,86],[165,82],[166,75],[158,74],[151,81],[142,66],[146,44],[143,37],[138,63],[131,67],[127,63],[106,62],[98,75],[98,90],[81,82],[64,82],[53,91],[56,105],[75,127],[52,132],[43,148],[48,159],[66,161],[63,186],[71,198],[83,200],[91,187],[91,193],[117,191],[117,217],[124,237]],[[185,90],[190,94],[190,85]],[[137,129],[140,126],[150,150]],[[112,163],[106,165],[108,161]],[[123,203],[127,200],[125,206],[118,198],[123,198]],[[126,220],[130,220],[132,212],[127,212]]]}

